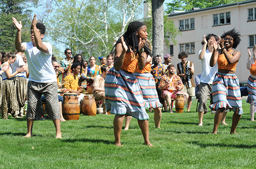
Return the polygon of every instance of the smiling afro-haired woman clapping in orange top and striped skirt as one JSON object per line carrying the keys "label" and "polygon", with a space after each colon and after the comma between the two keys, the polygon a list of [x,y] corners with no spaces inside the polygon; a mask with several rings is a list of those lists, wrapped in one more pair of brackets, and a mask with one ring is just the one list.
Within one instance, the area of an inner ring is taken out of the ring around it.
{"label": "smiling afro-haired woman clapping in orange top and striped skirt", "polygon": [[[224,32],[218,42],[213,39],[213,54],[210,60],[210,66],[213,67],[218,62],[218,72],[213,80],[213,105],[209,107],[217,111],[214,116],[213,134],[217,134],[219,122],[222,119],[223,112],[227,109],[234,111],[230,134],[236,133],[235,129],[243,114],[241,93],[239,89],[239,80],[235,75],[236,64],[241,53],[233,50],[241,39],[240,33],[234,29]],[[218,49],[218,43],[221,49]]]}

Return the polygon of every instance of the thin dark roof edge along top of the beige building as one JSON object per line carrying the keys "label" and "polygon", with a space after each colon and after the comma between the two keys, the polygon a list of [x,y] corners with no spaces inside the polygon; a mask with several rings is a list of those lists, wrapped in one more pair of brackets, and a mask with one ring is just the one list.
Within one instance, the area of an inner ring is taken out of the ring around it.
{"label": "thin dark roof edge along top of the beige building", "polygon": [[235,3],[231,3],[231,4],[225,4],[225,5],[219,5],[219,6],[212,6],[212,7],[208,7],[208,8],[203,8],[203,9],[193,9],[191,11],[187,11],[187,12],[171,12],[171,14],[168,14],[168,16],[178,16],[178,15],[184,15],[187,13],[193,13],[193,12],[199,12],[199,11],[207,11],[207,10],[212,10],[215,8],[223,8],[223,7],[227,7],[227,6],[232,6],[232,5],[240,5],[240,4],[247,4],[247,3],[251,3],[251,2],[256,2],[256,0],[246,0],[246,1],[242,1],[242,2],[235,2]]}

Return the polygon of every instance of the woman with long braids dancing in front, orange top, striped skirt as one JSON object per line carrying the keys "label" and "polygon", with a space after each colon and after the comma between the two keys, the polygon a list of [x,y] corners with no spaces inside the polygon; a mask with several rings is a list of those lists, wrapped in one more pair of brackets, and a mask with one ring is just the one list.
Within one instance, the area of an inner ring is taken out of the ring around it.
{"label": "woman with long braids dancing in front, orange top, striped skirt", "polygon": [[133,21],[114,46],[114,67],[105,79],[105,96],[107,111],[111,110],[110,113],[116,115],[113,124],[117,146],[122,146],[120,137],[125,114],[138,119],[144,144],[152,146],[149,142],[149,115],[138,80],[133,74],[138,61],[139,69],[143,69],[147,55],[152,55],[149,48],[144,46],[147,36],[147,26],[143,22]]}

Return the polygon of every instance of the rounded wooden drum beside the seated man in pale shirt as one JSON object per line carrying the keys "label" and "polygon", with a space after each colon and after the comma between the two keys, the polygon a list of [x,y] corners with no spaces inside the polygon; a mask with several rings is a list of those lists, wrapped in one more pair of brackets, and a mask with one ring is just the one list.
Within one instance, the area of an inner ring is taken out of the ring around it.
{"label": "rounded wooden drum beside the seated man in pale shirt", "polygon": [[80,111],[85,116],[96,116],[97,107],[93,95],[85,95],[84,100],[80,105]]}

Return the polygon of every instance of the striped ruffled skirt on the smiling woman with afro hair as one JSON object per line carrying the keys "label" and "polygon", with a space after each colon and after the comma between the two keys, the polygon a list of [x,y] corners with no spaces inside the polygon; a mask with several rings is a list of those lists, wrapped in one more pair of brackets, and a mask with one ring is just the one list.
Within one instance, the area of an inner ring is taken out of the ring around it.
{"label": "striped ruffled skirt on the smiling woman with afro hair", "polygon": [[235,74],[223,74],[217,72],[213,80],[213,104],[209,107],[217,111],[224,107],[225,110],[243,114],[242,98],[239,88],[239,80]]}

